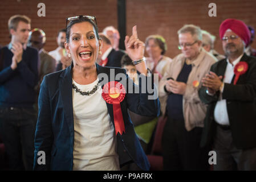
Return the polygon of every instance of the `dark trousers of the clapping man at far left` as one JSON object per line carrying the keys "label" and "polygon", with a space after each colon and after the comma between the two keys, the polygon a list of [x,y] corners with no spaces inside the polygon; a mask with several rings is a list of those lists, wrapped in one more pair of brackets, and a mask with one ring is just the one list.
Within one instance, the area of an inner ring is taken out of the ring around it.
{"label": "dark trousers of the clapping man at far left", "polygon": [[0,134],[10,170],[32,170],[36,115],[34,109],[0,108]]}

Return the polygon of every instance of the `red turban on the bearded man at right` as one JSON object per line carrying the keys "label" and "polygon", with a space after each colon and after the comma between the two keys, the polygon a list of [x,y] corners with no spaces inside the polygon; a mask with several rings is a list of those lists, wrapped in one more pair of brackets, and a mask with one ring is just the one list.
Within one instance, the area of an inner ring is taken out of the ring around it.
{"label": "red turban on the bearded man at right", "polygon": [[224,20],[224,22],[221,23],[219,30],[221,39],[223,38],[227,29],[230,29],[237,34],[245,42],[246,46],[248,46],[250,43],[251,34],[245,23],[243,23],[241,20],[231,18]]}

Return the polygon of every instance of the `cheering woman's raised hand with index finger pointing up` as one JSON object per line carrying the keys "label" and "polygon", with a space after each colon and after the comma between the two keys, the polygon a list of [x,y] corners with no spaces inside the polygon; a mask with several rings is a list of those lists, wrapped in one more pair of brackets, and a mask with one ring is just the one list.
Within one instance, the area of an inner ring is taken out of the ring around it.
{"label": "cheering woman's raised hand with index finger pointing up", "polygon": [[137,26],[132,27],[132,36],[125,36],[124,40],[127,54],[133,61],[144,57],[145,44],[138,39]]}

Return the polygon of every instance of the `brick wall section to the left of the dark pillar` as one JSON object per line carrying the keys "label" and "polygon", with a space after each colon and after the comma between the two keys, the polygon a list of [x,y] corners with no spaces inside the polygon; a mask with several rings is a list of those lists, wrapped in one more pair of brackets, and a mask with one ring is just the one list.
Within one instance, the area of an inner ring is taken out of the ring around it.
{"label": "brick wall section to the left of the dark pillar", "polygon": [[[46,5],[46,16],[39,17],[38,3]],[[66,18],[74,15],[95,15],[99,31],[113,25],[117,27],[117,0],[1,0],[0,2],[0,44],[10,42],[8,19],[14,14],[25,14],[31,18],[31,28],[41,28],[46,33],[46,51],[52,51],[58,44],[58,31],[66,26]]]}

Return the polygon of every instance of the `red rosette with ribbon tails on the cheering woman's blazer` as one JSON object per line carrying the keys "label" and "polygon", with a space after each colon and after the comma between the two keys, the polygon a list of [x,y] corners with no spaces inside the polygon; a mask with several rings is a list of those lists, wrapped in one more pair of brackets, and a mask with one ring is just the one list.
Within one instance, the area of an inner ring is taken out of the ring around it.
{"label": "red rosette with ribbon tails on the cheering woman's blazer", "polygon": [[122,135],[123,132],[125,133],[125,128],[120,102],[122,102],[125,97],[124,86],[118,81],[110,81],[103,86],[101,96],[106,102],[108,102],[108,104],[113,105],[116,135],[117,133]]}

